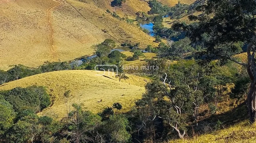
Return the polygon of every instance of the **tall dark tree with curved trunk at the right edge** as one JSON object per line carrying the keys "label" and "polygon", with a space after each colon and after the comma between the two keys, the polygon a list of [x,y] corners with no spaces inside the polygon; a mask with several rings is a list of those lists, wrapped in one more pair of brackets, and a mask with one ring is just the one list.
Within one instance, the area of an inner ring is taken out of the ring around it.
{"label": "tall dark tree with curved trunk at the right edge", "polygon": [[[202,35],[207,34],[209,38],[205,42],[206,50],[201,52],[205,55],[206,61],[210,61],[213,56],[220,60],[232,60],[246,67],[250,78],[250,90],[247,94],[247,106],[249,118],[252,123],[256,120],[255,101],[255,1],[214,1],[209,0],[206,4],[197,7],[198,11],[205,13],[204,16],[189,16],[190,20],[197,20],[198,25],[183,25],[177,23],[173,25],[175,30],[185,30],[188,32],[192,42],[200,42]],[[208,15],[214,15],[213,17]],[[231,56],[236,53],[235,42],[245,42],[247,44],[247,61],[239,62]]]}

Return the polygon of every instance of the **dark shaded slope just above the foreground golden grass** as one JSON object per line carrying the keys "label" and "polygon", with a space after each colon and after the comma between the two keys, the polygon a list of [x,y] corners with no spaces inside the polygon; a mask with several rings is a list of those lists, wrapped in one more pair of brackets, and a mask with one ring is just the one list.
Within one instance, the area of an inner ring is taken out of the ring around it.
{"label": "dark shaded slope just above the foreground golden grass", "polygon": [[220,128],[226,128],[228,126],[244,121],[248,118],[249,116],[247,106],[246,102],[244,102],[230,111],[217,115],[212,115],[209,118],[199,121],[197,126],[194,125],[190,127],[189,130],[191,132],[188,132],[188,134],[189,136],[192,136],[193,134],[200,135],[210,133],[218,129],[216,128],[218,126],[218,123],[221,126]]}

